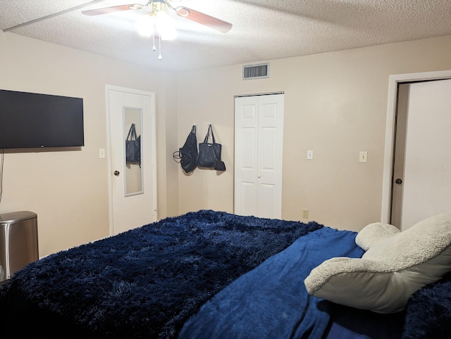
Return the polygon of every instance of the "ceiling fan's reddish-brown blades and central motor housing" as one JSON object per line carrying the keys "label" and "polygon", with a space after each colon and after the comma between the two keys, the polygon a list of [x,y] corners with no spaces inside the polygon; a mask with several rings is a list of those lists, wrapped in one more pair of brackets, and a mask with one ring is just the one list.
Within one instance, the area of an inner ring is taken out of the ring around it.
{"label": "ceiling fan's reddish-brown blades and central motor housing", "polygon": [[118,11],[137,10],[147,7],[150,8],[149,15],[155,15],[160,11],[166,11],[166,8],[168,7],[171,8],[171,10],[175,11],[175,13],[182,18],[192,20],[195,23],[199,23],[201,25],[213,28],[214,30],[217,30],[219,32],[226,33],[232,28],[231,23],[227,23],[226,21],[223,21],[221,19],[214,18],[210,15],[206,15],[198,11],[194,11],[194,9],[187,8],[185,6],[174,7],[171,5],[171,0],[149,0],[149,2],[145,5],[128,4],[128,5],[104,7],[88,11],[82,11],[82,13],[85,15],[101,15]]}

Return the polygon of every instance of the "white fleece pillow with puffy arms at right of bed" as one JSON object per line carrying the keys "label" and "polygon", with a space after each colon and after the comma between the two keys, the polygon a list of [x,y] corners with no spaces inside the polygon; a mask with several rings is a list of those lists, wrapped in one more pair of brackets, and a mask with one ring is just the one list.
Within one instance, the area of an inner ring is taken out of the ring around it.
{"label": "white fleece pillow with puffy arms at right of bed", "polygon": [[[368,234],[377,229],[371,225]],[[384,233],[387,228],[380,226]],[[369,241],[361,259],[335,257],[320,264],[304,281],[309,294],[358,309],[398,312],[412,293],[451,271],[451,214],[395,233]]]}

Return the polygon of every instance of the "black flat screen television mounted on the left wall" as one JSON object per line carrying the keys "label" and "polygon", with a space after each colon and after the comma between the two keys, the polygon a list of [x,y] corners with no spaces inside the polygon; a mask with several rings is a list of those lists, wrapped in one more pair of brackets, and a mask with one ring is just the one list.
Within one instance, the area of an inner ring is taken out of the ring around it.
{"label": "black flat screen television mounted on the left wall", "polygon": [[85,146],[83,99],[0,90],[0,149]]}

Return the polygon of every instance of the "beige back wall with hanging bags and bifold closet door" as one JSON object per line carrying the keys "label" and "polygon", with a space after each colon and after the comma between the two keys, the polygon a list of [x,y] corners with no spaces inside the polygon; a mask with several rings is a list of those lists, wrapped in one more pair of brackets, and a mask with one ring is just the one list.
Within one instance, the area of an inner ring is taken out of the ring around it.
{"label": "beige back wall with hanging bags and bifold closet door", "polygon": [[451,36],[271,60],[269,79],[243,81],[242,65],[179,74],[179,143],[193,123],[202,141],[211,122],[228,168],[180,171],[180,213],[233,212],[233,97],[284,91],[283,219],[355,231],[381,221],[388,77],[447,69]]}

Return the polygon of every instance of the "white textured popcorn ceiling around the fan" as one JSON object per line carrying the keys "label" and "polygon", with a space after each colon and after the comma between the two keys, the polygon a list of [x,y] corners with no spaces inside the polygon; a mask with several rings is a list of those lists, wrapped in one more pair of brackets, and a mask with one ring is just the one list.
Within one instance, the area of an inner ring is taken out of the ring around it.
{"label": "white textured popcorn ceiling around the fan", "polygon": [[450,0],[179,0],[173,4],[220,18],[233,28],[216,32],[170,13],[178,37],[161,41],[159,60],[158,51],[152,51],[152,38],[141,37],[135,27],[147,15],[145,8],[97,16],[81,13],[130,3],[2,0],[0,29],[172,70],[249,64],[451,34]]}

